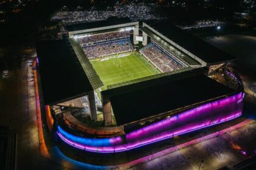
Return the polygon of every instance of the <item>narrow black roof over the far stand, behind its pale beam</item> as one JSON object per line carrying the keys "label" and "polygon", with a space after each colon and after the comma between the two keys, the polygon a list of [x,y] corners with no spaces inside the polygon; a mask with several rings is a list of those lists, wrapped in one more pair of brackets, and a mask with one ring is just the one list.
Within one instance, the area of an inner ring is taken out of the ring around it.
{"label": "narrow black roof over the far stand, behind its pale beam", "polygon": [[94,29],[98,27],[107,27],[110,25],[118,25],[118,24],[126,24],[130,21],[129,18],[108,18],[104,21],[96,21],[96,22],[87,22],[82,24],[74,24],[74,25],[66,25],[66,30],[69,32],[77,31],[77,30],[85,30],[85,29]]}

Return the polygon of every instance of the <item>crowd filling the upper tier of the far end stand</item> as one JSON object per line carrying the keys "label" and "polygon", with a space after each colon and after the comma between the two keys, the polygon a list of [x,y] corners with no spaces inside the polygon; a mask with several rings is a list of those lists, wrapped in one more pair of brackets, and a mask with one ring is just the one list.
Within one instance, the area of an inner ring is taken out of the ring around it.
{"label": "crowd filling the upper tier of the far end stand", "polygon": [[89,35],[84,36],[82,38],[77,38],[77,42],[84,45],[93,44],[95,42],[102,42],[102,41],[109,41],[113,39],[121,39],[121,38],[127,38],[130,37],[129,32],[123,31],[123,32],[110,32],[110,33],[104,33],[104,34],[97,34],[97,35]]}

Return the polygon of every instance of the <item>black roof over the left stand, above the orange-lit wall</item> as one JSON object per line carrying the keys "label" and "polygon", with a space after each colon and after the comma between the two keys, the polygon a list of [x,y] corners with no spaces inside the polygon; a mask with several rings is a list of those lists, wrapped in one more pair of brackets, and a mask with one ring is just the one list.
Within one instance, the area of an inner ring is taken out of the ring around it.
{"label": "black roof over the left stand, above the orange-lit wall", "polygon": [[44,104],[56,104],[87,94],[91,87],[68,39],[36,43]]}

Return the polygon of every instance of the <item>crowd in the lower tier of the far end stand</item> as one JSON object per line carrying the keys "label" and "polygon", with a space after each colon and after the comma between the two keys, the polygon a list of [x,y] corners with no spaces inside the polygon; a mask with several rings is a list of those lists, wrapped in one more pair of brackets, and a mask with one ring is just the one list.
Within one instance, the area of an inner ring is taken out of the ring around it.
{"label": "crowd in the lower tier of the far end stand", "polygon": [[99,56],[126,52],[133,48],[130,39],[127,38],[84,46],[83,49],[88,58],[98,58]]}

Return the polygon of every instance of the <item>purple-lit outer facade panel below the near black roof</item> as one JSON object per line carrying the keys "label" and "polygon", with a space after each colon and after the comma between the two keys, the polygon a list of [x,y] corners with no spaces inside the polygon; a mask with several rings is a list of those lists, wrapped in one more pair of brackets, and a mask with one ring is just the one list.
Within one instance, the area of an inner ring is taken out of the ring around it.
{"label": "purple-lit outer facade panel below the near black roof", "polygon": [[[126,134],[126,141],[137,141],[138,138],[147,137],[149,134],[159,134],[159,132],[168,131],[182,124],[203,120],[206,117],[211,117],[211,121],[217,120],[216,118],[220,116],[232,114],[235,110],[241,110],[242,103],[236,103],[236,101],[240,100],[242,97],[242,93],[239,93],[228,98],[213,101],[212,103],[203,104],[202,106],[187,110],[170,118],[166,118],[165,120],[142,127],[141,129]],[[230,107],[231,110],[227,107]]]}

